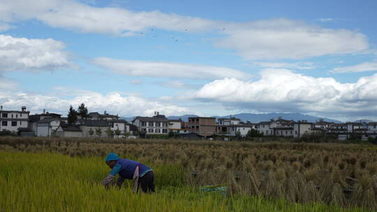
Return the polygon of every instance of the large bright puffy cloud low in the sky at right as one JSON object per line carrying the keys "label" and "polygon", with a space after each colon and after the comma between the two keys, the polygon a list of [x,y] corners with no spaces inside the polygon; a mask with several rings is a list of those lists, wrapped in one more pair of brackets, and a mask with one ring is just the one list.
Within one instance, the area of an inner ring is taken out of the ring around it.
{"label": "large bright puffy cloud low in the sky at right", "polygon": [[340,83],[285,69],[261,71],[260,79],[218,79],[205,84],[195,98],[259,112],[321,112],[361,114],[376,112],[377,74],[356,83]]}

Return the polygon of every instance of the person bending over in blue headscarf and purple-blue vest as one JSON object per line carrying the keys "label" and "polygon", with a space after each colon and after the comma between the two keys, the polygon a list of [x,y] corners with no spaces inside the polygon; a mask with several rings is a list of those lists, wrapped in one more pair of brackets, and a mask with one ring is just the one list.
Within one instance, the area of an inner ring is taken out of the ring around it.
{"label": "person bending over in blue headscarf and purple-blue vest", "polygon": [[110,182],[115,175],[119,174],[117,185],[119,188],[124,179],[133,180],[133,192],[138,192],[139,186],[143,192],[154,192],[154,174],[151,168],[135,160],[119,158],[115,153],[109,153],[106,156],[106,164],[111,168],[111,172],[102,181],[105,188],[108,189]]}

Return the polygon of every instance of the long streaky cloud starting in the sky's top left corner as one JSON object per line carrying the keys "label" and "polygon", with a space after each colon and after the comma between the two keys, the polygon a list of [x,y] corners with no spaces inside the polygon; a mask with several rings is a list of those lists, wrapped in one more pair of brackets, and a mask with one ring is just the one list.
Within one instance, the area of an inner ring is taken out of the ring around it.
{"label": "long streaky cloud starting in the sky's top left corner", "polygon": [[[3,1],[0,17],[7,20],[37,19],[51,27],[72,29],[84,33],[112,33],[129,35],[129,32],[147,28],[166,30],[202,31],[213,22],[200,17],[189,17],[159,11],[134,12],[122,8],[89,6],[77,1],[21,0]],[[1,15],[2,14],[2,15]]]}

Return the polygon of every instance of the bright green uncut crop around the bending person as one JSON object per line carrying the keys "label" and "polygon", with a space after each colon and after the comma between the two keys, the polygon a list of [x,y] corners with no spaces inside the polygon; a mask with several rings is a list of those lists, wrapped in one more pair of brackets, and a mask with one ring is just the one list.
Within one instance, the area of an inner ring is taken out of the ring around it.
{"label": "bright green uncut crop around the bending person", "polygon": [[130,182],[103,188],[110,169],[100,157],[0,151],[0,211],[361,211],[200,192],[184,184],[178,165],[152,167],[156,194],[133,195]]}

